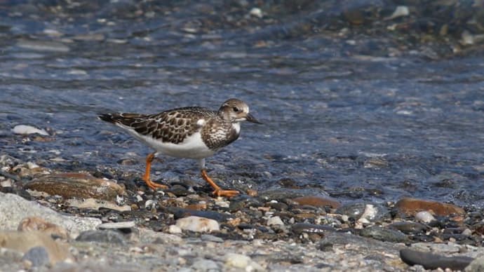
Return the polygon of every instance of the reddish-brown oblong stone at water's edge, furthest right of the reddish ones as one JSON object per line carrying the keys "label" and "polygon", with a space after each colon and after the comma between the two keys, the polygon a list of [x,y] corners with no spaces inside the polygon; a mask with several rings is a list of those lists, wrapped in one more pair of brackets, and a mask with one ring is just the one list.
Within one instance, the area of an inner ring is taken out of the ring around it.
{"label": "reddish-brown oblong stone at water's edge, furthest right of the reddish ones", "polygon": [[448,216],[448,215],[464,215],[464,209],[447,203],[441,203],[432,200],[422,200],[417,198],[402,198],[395,204],[398,213],[405,215],[415,215],[417,212],[427,210],[433,212],[434,215]]}

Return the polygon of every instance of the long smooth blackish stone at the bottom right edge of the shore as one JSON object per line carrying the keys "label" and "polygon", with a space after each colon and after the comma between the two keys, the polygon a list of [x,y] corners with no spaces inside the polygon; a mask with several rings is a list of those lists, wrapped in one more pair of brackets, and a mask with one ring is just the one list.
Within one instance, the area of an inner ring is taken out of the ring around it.
{"label": "long smooth blackish stone at the bottom right edge of the shore", "polygon": [[405,264],[413,266],[419,264],[425,269],[450,268],[452,270],[464,270],[466,266],[471,264],[473,258],[464,256],[445,257],[429,252],[421,252],[417,250],[403,249],[400,250],[400,257]]}

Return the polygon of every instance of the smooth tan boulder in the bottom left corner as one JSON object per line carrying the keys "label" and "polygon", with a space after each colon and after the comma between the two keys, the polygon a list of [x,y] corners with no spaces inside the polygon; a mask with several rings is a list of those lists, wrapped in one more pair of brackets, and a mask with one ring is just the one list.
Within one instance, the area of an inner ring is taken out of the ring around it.
{"label": "smooth tan boulder in the bottom left corner", "polygon": [[51,264],[72,259],[67,244],[56,242],[40,231],[0,231],[0,245],[24,253],[32,247],[43,247]]}

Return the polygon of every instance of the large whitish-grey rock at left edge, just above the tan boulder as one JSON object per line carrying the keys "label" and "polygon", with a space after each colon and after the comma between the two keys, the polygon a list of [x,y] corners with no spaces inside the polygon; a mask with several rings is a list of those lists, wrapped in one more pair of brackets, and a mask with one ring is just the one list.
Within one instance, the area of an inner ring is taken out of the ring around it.
{"label": "large whitish-grey rock at left edge, just above the tan boulder", "polygon": [[98,218],[60,215],[35,201],[25,200],[13,193],[0,193],[0,229],[17,230],[19,222],[25,217],[39,217],[61,226],[67,230],[71,238],[75,238],[81,231],[96,229],[101,224]]}

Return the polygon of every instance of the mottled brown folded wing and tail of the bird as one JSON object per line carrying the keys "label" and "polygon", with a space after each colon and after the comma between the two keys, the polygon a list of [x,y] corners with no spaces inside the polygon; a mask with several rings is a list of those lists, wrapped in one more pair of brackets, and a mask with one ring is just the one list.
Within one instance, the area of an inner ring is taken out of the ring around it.
{"label": "mottled brown folded wing and tail of the bird", "polygon": [[216,113],[202,107],[184,107],[159,114],[100,114],[103,121],[117,123],[162,142],[178,144],[201,128],[200,119]]}

